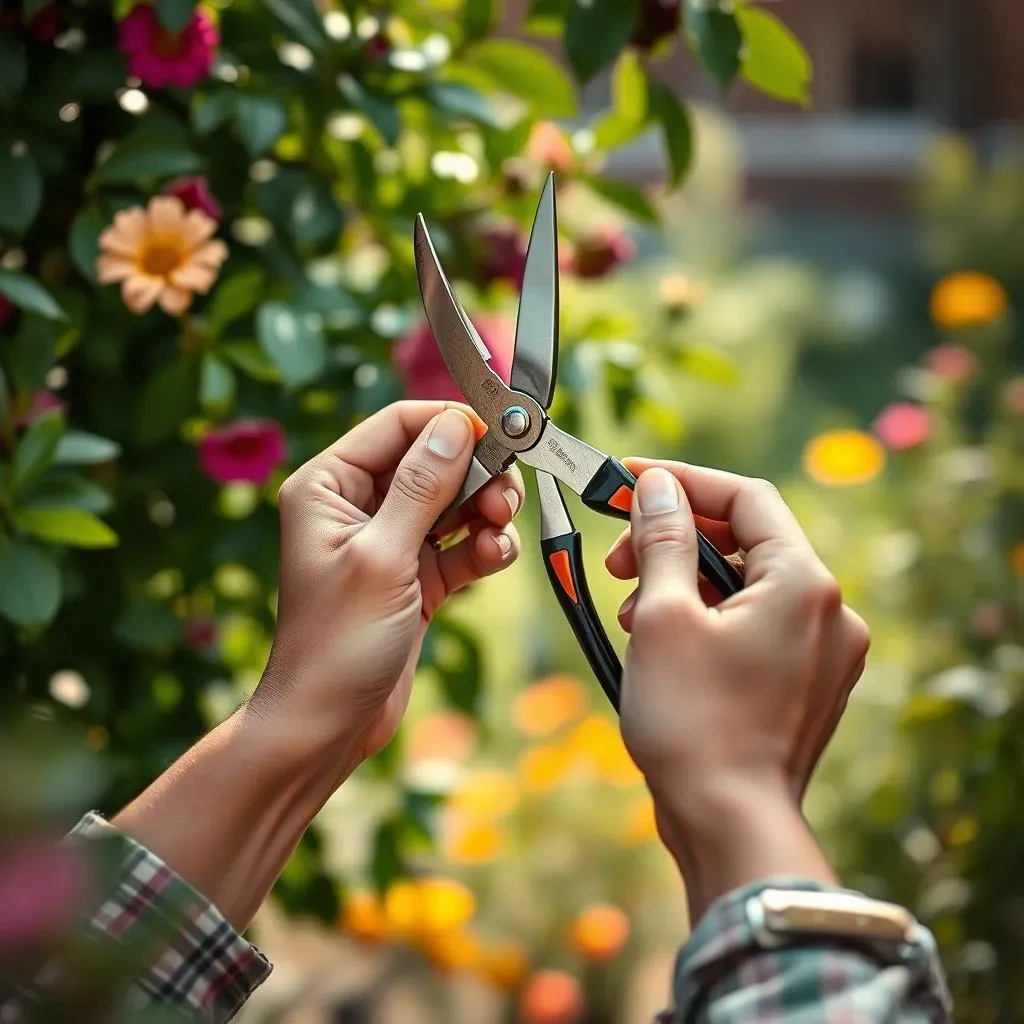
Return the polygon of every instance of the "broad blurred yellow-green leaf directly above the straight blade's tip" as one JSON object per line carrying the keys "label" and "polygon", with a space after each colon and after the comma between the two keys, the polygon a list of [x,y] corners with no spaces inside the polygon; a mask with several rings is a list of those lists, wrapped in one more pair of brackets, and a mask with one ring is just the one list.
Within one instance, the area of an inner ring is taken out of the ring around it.
{"label": "broad blurred yellow-green leaf directly above the straight blade's tip", "polygon": [[513,39],[484,39],[467,50],[463,61],[544,117],[577,116],[571,79],[547,53],[532,46]]}

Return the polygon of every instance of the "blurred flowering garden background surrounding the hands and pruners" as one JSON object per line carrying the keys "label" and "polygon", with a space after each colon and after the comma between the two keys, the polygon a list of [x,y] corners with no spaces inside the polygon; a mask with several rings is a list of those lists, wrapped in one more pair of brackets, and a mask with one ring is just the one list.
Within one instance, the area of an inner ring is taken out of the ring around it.
{"label": "blurred flowering garden background surrounding the hands and pruners", "polygon": [[[1024,12],[864,6],[0,7],[0,893],[34,908],[0,962],[73,907],[27,823],[113,813],[258,680],[288,472],[454,393],[415,214],[501,356],[554,170],[556,417],[779,483],[873,634],[808,814],[935,931],[959,1019],[1016,1019]],[[527,505],[257,920],[244,1021],[666,1004],[680,882]]]}

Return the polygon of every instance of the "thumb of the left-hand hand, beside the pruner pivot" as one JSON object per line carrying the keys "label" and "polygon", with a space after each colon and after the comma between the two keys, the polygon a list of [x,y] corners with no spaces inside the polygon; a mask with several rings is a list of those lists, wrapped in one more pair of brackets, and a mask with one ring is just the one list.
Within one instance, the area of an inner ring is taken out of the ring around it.
{"label": "thumb of the left-hand hand, beside the pruner pivot", "polygon": [[384,501],[368,528],[380,543],[416,557],[430,527],[454,501],[473,454],[473,424],[447,409],[423,428],[398,463]]}

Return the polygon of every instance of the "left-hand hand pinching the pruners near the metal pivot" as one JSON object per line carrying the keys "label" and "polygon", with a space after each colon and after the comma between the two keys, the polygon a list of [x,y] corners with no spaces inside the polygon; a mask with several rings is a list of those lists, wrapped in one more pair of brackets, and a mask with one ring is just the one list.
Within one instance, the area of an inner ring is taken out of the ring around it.
{"label": "left-hand hand pinching the pruners near the metal pivot", "polygon": [[431,616],[457,590],[510,565],[523,500],[513,467],[428,531],[462,486],[472,413],[402,401],[372,416],[281,488],[281,586],[269,663],[250,700],[302,743],[354,767],[393,737]]}

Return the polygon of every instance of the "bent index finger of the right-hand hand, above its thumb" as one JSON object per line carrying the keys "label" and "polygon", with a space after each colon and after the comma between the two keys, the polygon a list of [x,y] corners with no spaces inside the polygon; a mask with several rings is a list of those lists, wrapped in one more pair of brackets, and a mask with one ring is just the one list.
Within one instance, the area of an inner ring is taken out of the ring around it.
{"label": "bent index finger of the right-hand hand, above its thumb", "polygon": [[797,517],[767,480],[683,462],[631,458],[625,459],[624,465],[635,476],[652,466],[667,469],[683,485],[696,515],[729,523],[736,544],[748,553],[749,563],[755,549],[769,541],[782,541],[814,555]]}

